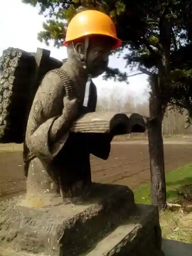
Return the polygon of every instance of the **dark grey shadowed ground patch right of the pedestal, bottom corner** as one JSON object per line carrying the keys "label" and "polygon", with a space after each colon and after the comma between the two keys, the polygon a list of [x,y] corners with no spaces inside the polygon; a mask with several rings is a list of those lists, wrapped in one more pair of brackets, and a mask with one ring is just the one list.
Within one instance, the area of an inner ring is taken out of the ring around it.
{"label": "dark grey shadowed ground patch right of the pedestal, bottom corner", "polygon": [[165,256],[191,256],[192,244],[163,239],[162,250],[165,252]]}

